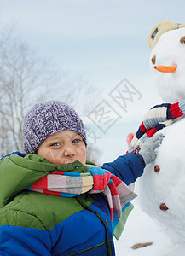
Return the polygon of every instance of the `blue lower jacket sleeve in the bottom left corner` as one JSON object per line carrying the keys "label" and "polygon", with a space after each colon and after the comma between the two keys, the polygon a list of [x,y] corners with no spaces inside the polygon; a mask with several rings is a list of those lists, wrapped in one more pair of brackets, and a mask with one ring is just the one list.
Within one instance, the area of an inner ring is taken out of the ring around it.
{"label": "blue lower jacket sleeve in the bottom left corner", "polygon": [[51,241],[46,230],[11,225],[0,227],[1,256],[50,256]]}

